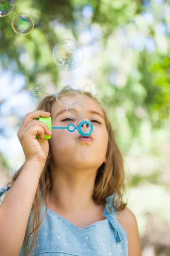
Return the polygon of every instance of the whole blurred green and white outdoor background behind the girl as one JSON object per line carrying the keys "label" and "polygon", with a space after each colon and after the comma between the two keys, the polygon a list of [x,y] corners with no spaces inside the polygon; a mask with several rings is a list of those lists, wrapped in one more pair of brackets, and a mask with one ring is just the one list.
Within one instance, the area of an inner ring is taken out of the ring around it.
{"label": "whole blurred green and white outdoor background behind the girl", "polygon": [[[20,12],[35,22],[29,35],[12,30]],[[84,49],[75,70],[52,58],[66,38]],[[69,83],[91,88],[112,122],[142,256],[170,256],[170,0],[22,0],[0,17],[0,187],[24,162],[17,131],[37,106],[29,89]]]}

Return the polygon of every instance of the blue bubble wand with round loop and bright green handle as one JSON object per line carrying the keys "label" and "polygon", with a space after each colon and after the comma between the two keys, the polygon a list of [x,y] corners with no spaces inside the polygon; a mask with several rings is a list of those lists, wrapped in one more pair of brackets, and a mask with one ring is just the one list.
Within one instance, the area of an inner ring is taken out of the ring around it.
{"label": "blue bubble wand with round loop and bright green handle", "polygon": [[[81,121],[81,122],[78,124],[78,127],[76,127],[74,124],[69,124],[68,126],[63,127],[63,126],[52,126],[51,117],[38,117],[38,118],[36,118],[36,119],[39,120],[39,121],[41,121],[41,122],[44,122],[44,123],[48,126],[48,128],[49,128],[50,131],[51,131],[52,129],[67,129],[68,131],[73,132],[73,131],[75,131],[75,129],[78,129],[79,134],[81,134],[81,135],[84,136],[84,137],[89,136],[89,135],[92,134],[92,132],[93,132],[93,125],[92,125],[92,123],[91,123],[90,121],[88,121],[88,120],[83,120],[83,121]],[[84,124],[89,125],[89,127],[90,127],[90,130],[89,130],[89,131],[82,131],[82,130],[81,130],[82,125],[84,125]],[[70,126],[72,126],[73,129],[70,129]],[[40,139],[40,137],[38,136],[38,134],[36,135],[36,138],[37,138],[37,139]],[[46,134],[44,134],[44,139],[51,139],[51,135],[46,135]]]}

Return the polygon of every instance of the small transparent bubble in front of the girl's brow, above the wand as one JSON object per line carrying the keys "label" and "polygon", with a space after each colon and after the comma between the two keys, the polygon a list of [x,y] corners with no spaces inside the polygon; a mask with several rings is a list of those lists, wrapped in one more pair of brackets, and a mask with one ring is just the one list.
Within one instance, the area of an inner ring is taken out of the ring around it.
{"label": "small transparent bubble in front of the girl's brow, above the wand", "polygon": [[67,116],[71,119],[81,119],[84,115],[84,105],[81,102],[72,102],[66,105]]}

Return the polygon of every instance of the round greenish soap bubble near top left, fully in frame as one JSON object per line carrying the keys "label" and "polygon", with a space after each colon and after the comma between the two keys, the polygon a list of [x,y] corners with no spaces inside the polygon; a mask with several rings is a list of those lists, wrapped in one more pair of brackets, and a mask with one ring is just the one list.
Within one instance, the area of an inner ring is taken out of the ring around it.
{"label": "round greenish soap bubble near top left, fully in frame", "polygon": [[12,19],[12,29],[18,35],[28,35],[34,28],[34,20],[25,13],[18,13]]}

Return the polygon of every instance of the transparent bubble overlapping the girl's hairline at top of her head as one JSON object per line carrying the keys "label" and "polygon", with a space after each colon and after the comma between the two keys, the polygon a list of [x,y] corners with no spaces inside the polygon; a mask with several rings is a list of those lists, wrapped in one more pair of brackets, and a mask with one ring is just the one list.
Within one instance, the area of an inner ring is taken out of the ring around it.
{"label": "transparent bubble overlapping the girl's hairline at top of her head", "polygon": [[82,102],[83,94],[81,88],[76,84],[68,84],[61,93],[57,93],[55,96],[58,104],[67,105],[72,102]]}

